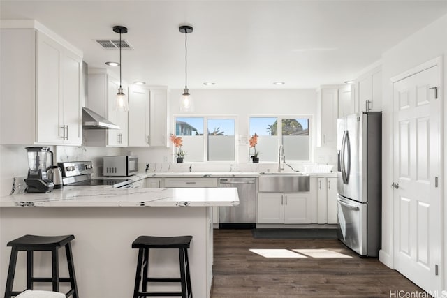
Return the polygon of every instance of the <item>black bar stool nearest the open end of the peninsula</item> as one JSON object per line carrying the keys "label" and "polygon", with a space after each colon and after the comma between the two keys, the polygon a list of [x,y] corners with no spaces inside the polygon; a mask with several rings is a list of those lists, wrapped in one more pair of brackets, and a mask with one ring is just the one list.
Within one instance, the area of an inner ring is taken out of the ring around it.
{"label": "black bar stool nearest the open end of the peninsula", "polygon": [[[132,248],[138,248],[138,264],[135,276],[135,288],[133,298],[147,296],[181,296],[182,298],[192,298],[191,276],[189,275],[188,248],[193,239],[192,236],[177,237],[152,237],[140,236],[132,243]],[[179,250],[180,278],[175,277],[149,277],[147,275],[149,267],[150,248],[177,248]],[[142,271],[142,274],[141,274]],[[180,283],[182,292],[147,292],[147,283]],[[140,291],[141,284],[141,291]]]}

